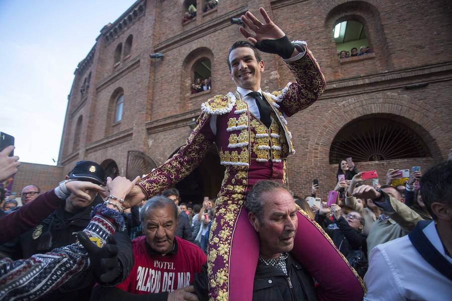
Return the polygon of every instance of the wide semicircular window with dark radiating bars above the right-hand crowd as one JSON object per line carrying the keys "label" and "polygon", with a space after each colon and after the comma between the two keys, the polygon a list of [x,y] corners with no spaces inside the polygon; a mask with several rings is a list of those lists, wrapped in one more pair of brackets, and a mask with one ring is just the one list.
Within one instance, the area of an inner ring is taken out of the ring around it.
{"label": "wide semicircular window with dark radiating bars above the right-hand crowd", "polygon": [[334,137],[329,163],[352,157],[354,162],[430,157],[428,147],[411,128],[388,118],[355,120]]}

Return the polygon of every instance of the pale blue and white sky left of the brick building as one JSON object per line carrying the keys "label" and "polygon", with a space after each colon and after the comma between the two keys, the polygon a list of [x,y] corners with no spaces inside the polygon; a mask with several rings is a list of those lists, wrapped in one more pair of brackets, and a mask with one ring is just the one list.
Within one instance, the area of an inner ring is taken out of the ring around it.
{"label": "pale blue and white sky left of the brick building", "polygon": [[0,0],[0,131],[21,162],[56,165],[75,68],[134,3]]}

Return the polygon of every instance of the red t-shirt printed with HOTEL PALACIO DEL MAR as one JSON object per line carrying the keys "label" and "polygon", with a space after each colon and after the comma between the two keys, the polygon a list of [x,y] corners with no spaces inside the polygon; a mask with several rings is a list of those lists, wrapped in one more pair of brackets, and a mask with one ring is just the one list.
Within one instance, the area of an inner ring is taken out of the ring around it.
{"label": "red t-shirt printed with HOTEL PALACIO DEL MAR", "polygon": [[146,236],[134,239],[134,267],[129,277],[116,287],[131,293],[145,294],[173,291],[190,285],[194,273],[201,271],[207,256],[195,244],[177,236],[175,239],[177,253],[166,256],[150,254],[150,248],[146,246]]}

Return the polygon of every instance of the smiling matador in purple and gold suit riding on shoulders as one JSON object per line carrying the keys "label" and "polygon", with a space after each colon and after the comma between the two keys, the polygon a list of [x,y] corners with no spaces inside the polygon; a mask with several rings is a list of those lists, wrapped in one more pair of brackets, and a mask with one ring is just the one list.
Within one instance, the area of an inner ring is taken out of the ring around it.
{"label": "smiling matador in purple and gold suit riding on shoulders", "polygon": [[[251,300],[259,256],[259,239],[247,218],[247,192],[260,180],[284,184],[286,159],[295,153],[287,116],[316,101],[325,80],[306,42],[290,42],[263,8],[261,23],[250,12],[241,17],[248,41],[229,52],[235,92],[216,95],[201,105],[196,127],[178,152],[140,180],[129,198],[149,198],[189,175],[212,143],[224,179],[215,203],[208,246],[209,294],[213,300]],[[282,57],[296,82],[272,93],[261,90],[264,61],[258,50]],[[317,281],[319,300],[362,299],[364,284],[321,228],[301,209],[291,251]]]}

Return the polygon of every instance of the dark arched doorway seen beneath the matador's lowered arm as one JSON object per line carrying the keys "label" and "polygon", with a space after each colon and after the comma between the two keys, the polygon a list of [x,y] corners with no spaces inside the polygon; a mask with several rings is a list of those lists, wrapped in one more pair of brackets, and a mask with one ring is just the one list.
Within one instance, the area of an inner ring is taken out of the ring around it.
{"label": "dark arched doorway seen beneath the matador's lowered arm", "polygon": [[224,167],[219,163],[216,146],[212,144],[199,166],[175,185],[183,202],[201,204],[204,197],[216,197],[224,176]]}

